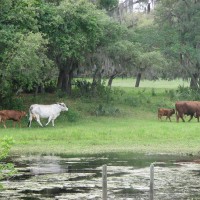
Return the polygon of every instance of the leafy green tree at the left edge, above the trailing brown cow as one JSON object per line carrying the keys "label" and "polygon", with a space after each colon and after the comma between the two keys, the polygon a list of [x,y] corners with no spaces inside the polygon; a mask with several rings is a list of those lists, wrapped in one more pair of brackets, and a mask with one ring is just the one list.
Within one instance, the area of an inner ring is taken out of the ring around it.
{"label": "leafy green tree at the left edge, above the trailing brown cow", "polygon": [[[0,99],[20,88],[44,84],[51,68],[46,56],[48,40],[38,32],[37,1],[1,2],[0,15]],[[5,3],[5,4],[4,4]],[[46,74],[45,74],[46,75]]]}

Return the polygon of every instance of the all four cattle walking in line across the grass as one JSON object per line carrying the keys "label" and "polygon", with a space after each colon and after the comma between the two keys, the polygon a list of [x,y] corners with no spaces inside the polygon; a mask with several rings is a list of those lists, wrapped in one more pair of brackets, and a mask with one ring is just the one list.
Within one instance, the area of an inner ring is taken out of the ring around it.
{"label": "all four cattle walking in line across the grass", "polygon": [[[56,103],[51,105],[33,104],[29,108],[28,127],[31,127],[31,122],[33,119],[35,119],[39,125],[43,127],[40,118],[48,118],[45,126],[47,126],[50,122],[52,122],[52,126],[54,126],[54,121],[60,115],[61,111],[68,111],[68,108],[64,103]],[[166,116],[166,119],[171,121],[170,117],[175,113],[177,122],[179,122],[179,118],[185,122],[184,115],[190,116],[189,121],[191,121],[193,117],[196,117],[197,121],[199,122],[200,101],[177,101],[175,103],[175,109],[159,108],[158,119],[162,120],[162,117]],[[6,128],[6,121],[12,120],[14,127],[16,122],[18,122],[21,127],[21,119],[25,116],[27,116],[27,114],[24,111],[1,110],[0,123],[3,123],[4,128]]]}

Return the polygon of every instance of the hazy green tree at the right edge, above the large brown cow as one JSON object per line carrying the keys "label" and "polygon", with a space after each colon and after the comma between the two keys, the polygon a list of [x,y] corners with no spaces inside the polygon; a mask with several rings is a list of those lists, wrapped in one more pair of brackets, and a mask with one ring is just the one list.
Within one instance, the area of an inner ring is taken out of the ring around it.
{"label": "hazy green tree at the right edge, above the large brown cow", "polygon": [[180,76],[190,78],[190,87],[200,87],[200,2],[197,0],[161,0],[156,22],[168,56],[179,60]]}

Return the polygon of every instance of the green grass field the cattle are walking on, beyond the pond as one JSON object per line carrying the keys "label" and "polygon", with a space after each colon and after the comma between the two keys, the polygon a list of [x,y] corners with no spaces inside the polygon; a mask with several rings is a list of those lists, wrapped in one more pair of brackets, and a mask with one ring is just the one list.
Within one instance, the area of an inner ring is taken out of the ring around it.
{"label": "green grass field the cattle are walking on, beyond the pond", "polygon": [[[120,80],[115,87],[119,88]],[[105,152],[141,152],[141,153],[174,153],[198,154],[200,133],[199,123],[193,119],[190,123],[176,123],[157,119],[158,107],[174,107],[176,94],[170,95],[179,82],[167,82],[165,88],[149,87],[132,88],[131,80],[121,80],[120,90],[113,94],[111,102],[85,98],[58,99],[55,95],[33,98],[24,96],[26,110],[30,103],[53,103],[64,101],[68,113],[61,113],[55,121],[55,127],[49,124],[41,128],[33,122],[27,128],[27,119],[23,128],[4,129],[1,124],[0,136],[13,137],[15,144],[12,154],[93,154]],[[152,83],[155,84],[155,83]],[[158,86],[161,83],[157,83]],[[172,87],[174,85],[174,87]],[[155,88],[152,90],[152,88]],[[166,89],[168,88],[168,89]],[[172,98],[173,96],[173,98]],[[98,107],[105,110],[104,115],[96,116]],[[117,110],[117,112],[113,112]],[[43,120],[43,124],[46,120]]]}

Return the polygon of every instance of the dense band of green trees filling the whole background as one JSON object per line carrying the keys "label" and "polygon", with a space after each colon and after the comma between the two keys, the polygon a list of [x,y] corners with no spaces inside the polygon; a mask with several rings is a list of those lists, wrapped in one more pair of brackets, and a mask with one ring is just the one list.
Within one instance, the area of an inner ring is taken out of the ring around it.
{"label": "dense band of green trees filling the whole background", "polygon": [[0,5],[5,104],[20,92],[70,95],[73,85],[95,90],[103,79],[111,87],[115,77],[136,78],[135,87],[141,78],[183,78],[191,88],[200,87],[198,0],[159,0],[153,10],[130,9],[120,18],[112,14],[123,5],[118,0],[0,0]]}

